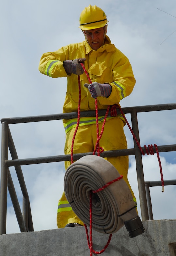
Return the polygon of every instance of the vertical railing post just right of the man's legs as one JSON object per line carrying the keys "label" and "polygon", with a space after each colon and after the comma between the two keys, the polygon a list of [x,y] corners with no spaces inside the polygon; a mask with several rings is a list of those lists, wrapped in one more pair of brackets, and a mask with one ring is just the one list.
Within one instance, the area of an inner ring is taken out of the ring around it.
{"label": "vertical railing post just right of the man's legs", "polygon": [[[137,112],[135,109],[133,109],[133,111],[131,112],[131,121],[132,121],[133,132],[136,136],[136,139],[140,143]],[[135,139],[134,139],[134,148],[135,148],[136,171],[137,171],[139,198],[140,198],[141,217],[142,217],[143,221],[146,221],[146,220],[149,220],[149,214],[148,214],[148,208],[147,208],[147,198],[146,198],[146,191],[145,191],[142,155],[141,155],[141,152],[136,144]]]}

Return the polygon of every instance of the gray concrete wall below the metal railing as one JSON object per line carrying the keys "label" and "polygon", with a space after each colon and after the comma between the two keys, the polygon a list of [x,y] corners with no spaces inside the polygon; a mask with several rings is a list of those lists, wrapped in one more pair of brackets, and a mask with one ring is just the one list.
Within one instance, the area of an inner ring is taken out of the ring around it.
{"label": "gray concrete wall below the metal railing", "polygon": [[[130,238],[123,226],[112,235],[103,256],[175,256],[176,220],[143,222],[146,232]],[[109,235],[93,232],[93,249],[101,250]],[[169,244],[170,252],[169,252]],[[89,256],[84,227],[0,235],[1,256]],[[93,254],[94,255],[94,254]]]}

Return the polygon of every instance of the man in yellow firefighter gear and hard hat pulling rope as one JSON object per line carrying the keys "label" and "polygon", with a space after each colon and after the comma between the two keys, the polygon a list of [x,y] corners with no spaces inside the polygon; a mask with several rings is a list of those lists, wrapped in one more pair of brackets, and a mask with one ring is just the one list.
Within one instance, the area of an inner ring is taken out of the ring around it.
{"label": "man in yellow firefighter gear and hard hat pulling rope", "polygon": [[[40,59],[39,71],[42,74],[52,78],[67,77],[63,113],[77,112],[79,99],[77,75],[80,75],[81,82],[80,111],[95,110],[95,98],[97,98],[99,110],[107,109],[108,105],[119,104],[120,100],[128,96],[134,88],[135,78],[131,64],[106,35],[107,22],[107,16],[101,8],[89,5],[81,12],[79,19],[79,28],[85,40],[64,46],[55,52],[44,53]],[[89,84],[81,62],[88,71],[92,84]],[[101,131],[103,120],[104,116],[100,116],[99,131]],[[64,151],[65,154],[70,154],[77,118],[63,120],[63,124],[66,132]],[[124,125],[125,120],[121,115],[107,118],[100,140],[100,147],[104,151],[127,148]],[[95,117],[81,117],[73,153],[93,152],[96,141]],[[128,156],[105,159],[114,165],[120,175],[123,175],[133,196],[132,200],[136,204],[136,198],[127,178]],[[70,164],[70,161],[66,161],[65,168],[67,169]],[[65,193],[58,203],[57,225],[58,228],[84,225],[72,211]]]}

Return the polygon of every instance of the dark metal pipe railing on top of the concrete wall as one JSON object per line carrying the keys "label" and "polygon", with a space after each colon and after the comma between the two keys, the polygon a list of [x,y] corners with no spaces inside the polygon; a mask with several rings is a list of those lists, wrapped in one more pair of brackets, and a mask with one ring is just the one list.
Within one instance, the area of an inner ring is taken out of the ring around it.
{"label": "dark metal pipe railing on top of the concrete wall", "polygon": [[[131,115],[132,130],[136,136],[136,139],[140,143],[137,113],[161,111],[161,110],[173,110],[173,109],[176,109],[176,103],[127,107],[127,108],[122,108],[122,111],[124,114],[129,113]],[[106,112],[105,110],[99,110],[99,115],[103,116],[105,115],[105,112]],[[119,109],[117,109],[117,113],[120,114]],[[95,111],[87,111],[87,112],[80,113],[80,117],[90,117],[90,116],[94,117]],[[29,196],[28,196],[26,185],[25,185],[21,166],[71,160],[70,155],[18,159],[15,145],[9,129],[9,124],[53,121],[53,120],[72,119],[72,118],[77,118],[77,112],[1,119],[1,123],[2,123],[1,144],[2,145],[1,145],[1,184],[0,184],[0,235],[6,233],[7,189],[9,191],[9,194],[12,200],[12,204],[15,210],[20,231],[21,232],[34,231],[30,201],[29,201]],[[8,148],[9,148],[12,160],[8,160]],[[176,144],[157,146],[157,148],[158,148],[158,152],[176,151]],[[146,150],[144,147],[142,147],[142,150],[144,151],[144,153],[146,153]],[[156,153],[155,148],[154,148],[154,152]],[[91,155],[91,154],[93,154],[93,152],[74,154],[73,157],[74,157],[74,160],[78,160],[79,158],[85,155]],[[134,148],[104,151],[103,153],[101,153],[101,157],[115,157],[115,156],[124,156],[124,155],[135,155],[138,190],[140,195],[141,217],[143,221],[153,220],[149,187],[158,186],[158,184],[161,185],[161,182],[160,181],[147,181],[147,182],[144,181],[142,155],[141,155],[141,151],[139,150],[136,144],[135,139],[134,139]],[[20,209],[16,192],[15,192],[13,181],[10,175],[9,167],[11,166],[15,167],[16,174],[17,174],[22,195],[23,195],[22,212]],[[176,185],[176,180],[165,181],[165,185]]]}

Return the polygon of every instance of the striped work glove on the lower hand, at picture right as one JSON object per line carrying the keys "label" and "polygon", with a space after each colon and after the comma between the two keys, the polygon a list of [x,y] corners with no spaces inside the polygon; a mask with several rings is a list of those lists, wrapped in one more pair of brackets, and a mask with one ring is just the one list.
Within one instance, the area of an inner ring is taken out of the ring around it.
{"label": "striped work glove on the lower hand, at picture right", "polygon": [[110,84],[99,84],[93,82],[92,84],[84,84],[84,87],[87,87],[91,93],[92,98],[97,98],[99,96],[108,98],[112,92],[112,87]]}

